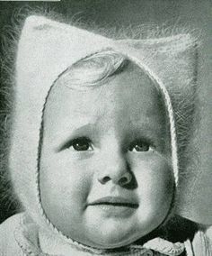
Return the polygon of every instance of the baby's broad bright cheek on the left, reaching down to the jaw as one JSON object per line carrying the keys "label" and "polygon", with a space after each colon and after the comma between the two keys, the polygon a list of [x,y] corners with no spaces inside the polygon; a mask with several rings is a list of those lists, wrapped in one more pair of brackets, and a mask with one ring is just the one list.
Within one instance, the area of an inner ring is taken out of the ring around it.
{"label": "baby's broad bright cheek on the left, reaching down to the jaw", "polygon": [[52,155],[43,152],[40,160],[41,204],[50,222],[67,236],[80,237],[80,231],[84,231],[84,207],[91,179],[92,173],[85,161],[71,158],[68,152]]}

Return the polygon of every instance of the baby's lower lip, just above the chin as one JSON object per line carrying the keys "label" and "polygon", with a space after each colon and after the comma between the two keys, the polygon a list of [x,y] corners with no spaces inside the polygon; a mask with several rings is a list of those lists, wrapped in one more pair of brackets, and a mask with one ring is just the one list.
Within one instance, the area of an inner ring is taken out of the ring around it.
{"label": "baby's lower lip, just above the chin", "polygon": [[96,204],[91,205],[90,207],[93,207],[95,210],[102,211],[107,215],[113,215],[117,217],[132,215],[137,210],[137,206],[117,206],[107,204]]}

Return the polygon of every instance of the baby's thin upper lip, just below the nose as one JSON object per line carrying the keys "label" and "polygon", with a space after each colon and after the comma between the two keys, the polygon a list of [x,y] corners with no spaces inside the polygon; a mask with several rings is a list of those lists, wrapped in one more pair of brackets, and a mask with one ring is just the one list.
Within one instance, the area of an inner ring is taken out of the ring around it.
{"label": "baby's thin upper lip, just below the nose", "polygon": [[88,206],[95,205],[113,205],[113,206],[128,206],[137,208],[138,204],[135,200],[128,199],[125,197],[101,197],[99,199],[93,200],[88,204]]}

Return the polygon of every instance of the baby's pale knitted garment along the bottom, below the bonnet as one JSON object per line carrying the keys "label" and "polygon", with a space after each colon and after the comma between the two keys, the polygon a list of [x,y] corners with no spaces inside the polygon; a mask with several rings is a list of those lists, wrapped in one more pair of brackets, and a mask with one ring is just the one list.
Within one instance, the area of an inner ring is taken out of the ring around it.
{"label": "baby's pale knitted garment along the bottom, below the bonnet", "polygon": [[[192,241],[185,242],[185,251],[180,256],[211,256],[212,255],[212,228],[206,232],[198,231]],[[165,242],[164,242],[165,246]],[[57,236],[40,231],[36,224],[33,224],[24,213],[13,215],[0,225],[0,256],[163,256],[173,255],[172,252],[166,254],[149,250],[142,246],[129,245],[113,251],[86,251],[80,244],[68,244]],[[176,254],[175,254],[176,255]]]}

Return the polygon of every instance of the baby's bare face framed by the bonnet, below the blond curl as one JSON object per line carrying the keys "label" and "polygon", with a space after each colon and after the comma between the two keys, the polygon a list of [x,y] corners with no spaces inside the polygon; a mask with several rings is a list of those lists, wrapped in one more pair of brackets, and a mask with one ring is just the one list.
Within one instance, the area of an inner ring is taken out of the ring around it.
{"label": "baby's bare face framed by the bonnet, below the blond curl", "polygon": [[163,105],[153,82],[133,65],[86,91],[60,79],[44,116],[42,206],[78,242],[127,245],[161,224],[172,204]]}

